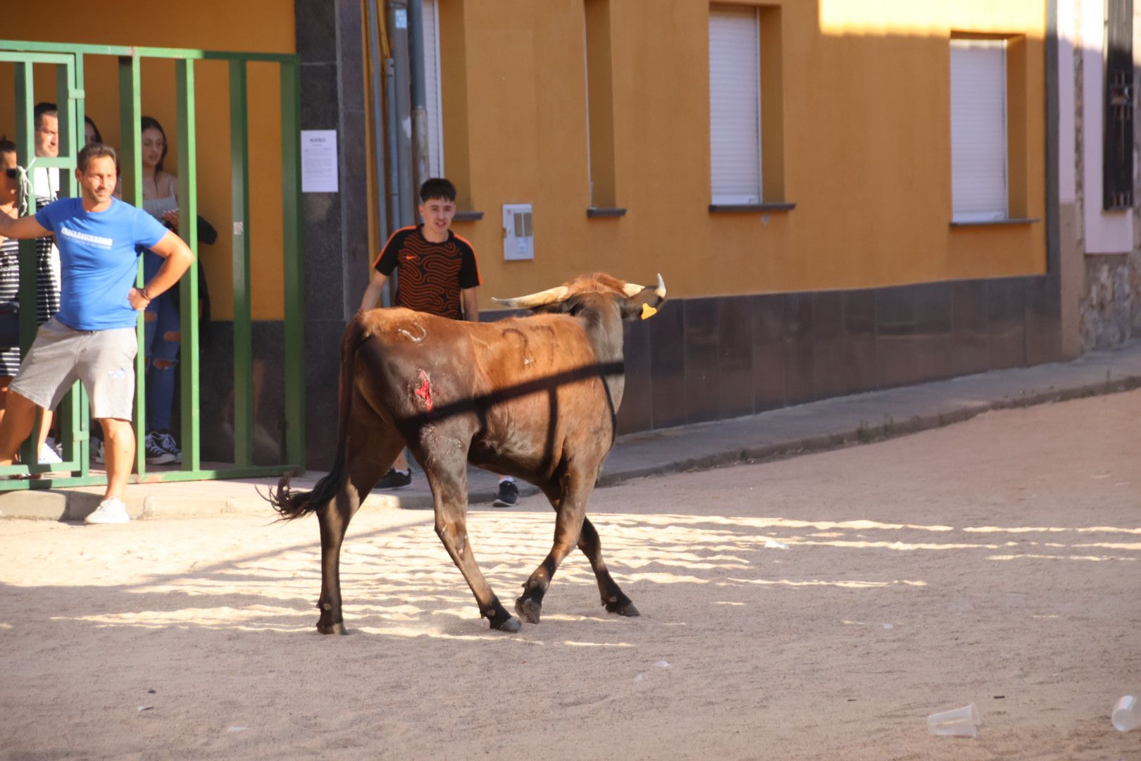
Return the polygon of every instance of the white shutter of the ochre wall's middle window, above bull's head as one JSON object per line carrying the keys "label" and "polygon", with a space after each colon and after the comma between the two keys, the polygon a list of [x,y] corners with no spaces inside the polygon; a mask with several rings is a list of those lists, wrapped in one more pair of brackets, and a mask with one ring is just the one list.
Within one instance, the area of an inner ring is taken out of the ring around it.
{"label": "white shutter of the ochre wall's middle window, above bull's head", "polygon": [[710,189],[713,204],[759,204],[761,18],[747,6],[710,7]]}

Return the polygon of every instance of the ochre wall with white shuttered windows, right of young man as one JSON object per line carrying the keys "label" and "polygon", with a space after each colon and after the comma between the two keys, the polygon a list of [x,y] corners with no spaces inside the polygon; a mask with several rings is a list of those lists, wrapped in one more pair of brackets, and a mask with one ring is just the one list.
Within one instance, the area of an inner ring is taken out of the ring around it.
{"label": "ochre wall with white shuttered windows, right of young man", "polygon": [[[1045,270],[1043,221],[950,226],[949,127],[952,34],[1011,37],[1025,207],[1011,212],[1044,218],[1043,0],[760,7],[780,24],[782,98],[762,111],[779,107],[778,200],[796,208],[709,211],[710,3],[609,0],[614,203],[628,213],[590,219],[584,0],[439,0],[445,172],[461,210],[486,214],[455,225],[479,254],[484,306],[599,269],[661,272],[674,296]],[[500,207],[526,202],[535,259],[504,261]]]}

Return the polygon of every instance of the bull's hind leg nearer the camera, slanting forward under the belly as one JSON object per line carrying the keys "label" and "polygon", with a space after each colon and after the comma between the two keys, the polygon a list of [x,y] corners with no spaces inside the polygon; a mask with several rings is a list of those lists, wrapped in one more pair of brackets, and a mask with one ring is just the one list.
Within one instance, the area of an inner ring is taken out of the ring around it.
{"label": "bull's hind leg nearer the camera, slanting forward under the belly", "polygon": [[[419,453],[418,453],[419,455]],[[467,463],[460,460],[451,467],[434,467],[430,461],[416,458],[424,465],[424,475],[431,485],[432,501],[436,507],[436,535],[452,557],[463,578],[471,588],[479,605],[479,615],[491,622],[492,629],[505,632],[517,632],[523,626],[518,620],[507,612],[495,592],[492,591],[483,572],[476,564],[476,556],[468,541],[468,470]]]}

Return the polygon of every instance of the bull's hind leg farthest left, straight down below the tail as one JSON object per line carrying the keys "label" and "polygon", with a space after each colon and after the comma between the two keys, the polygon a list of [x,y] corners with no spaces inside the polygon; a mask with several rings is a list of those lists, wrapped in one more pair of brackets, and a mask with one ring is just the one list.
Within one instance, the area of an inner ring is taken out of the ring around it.
{"label": "bull's hind leg farthest left, straight down below the tail", "polygon": [[[373,440],[369,440],[369,435]],[[317,631],[322,634],[343,634],[341,613],[341,543],[349,521],[369,492],[404,447],[404,440],[393,429],[386,429],[379,416],[365,413],[353,423],[349,435],[349,455],[345,485],[337,496],[317,510],[321,525],[321,598],[317,608]]]}

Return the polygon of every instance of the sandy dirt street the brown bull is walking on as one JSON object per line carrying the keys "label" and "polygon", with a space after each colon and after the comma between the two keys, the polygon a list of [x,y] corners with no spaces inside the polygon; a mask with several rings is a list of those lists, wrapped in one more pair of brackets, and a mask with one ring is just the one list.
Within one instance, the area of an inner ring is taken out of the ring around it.
{"label": "sandy dirt street the brown bull is walking on", "polygon": [[[600,489],[640,618],[573,554],[488,631],[426,511],[365,511],[347,637],[317,524],[0,520],[3,759],[1141,759],[1141,391]],[[539,497],[474,509],[510,606]],[[978,737],[929,713],[978,706]],[[143,710],[145,709],[145,710]]]}

